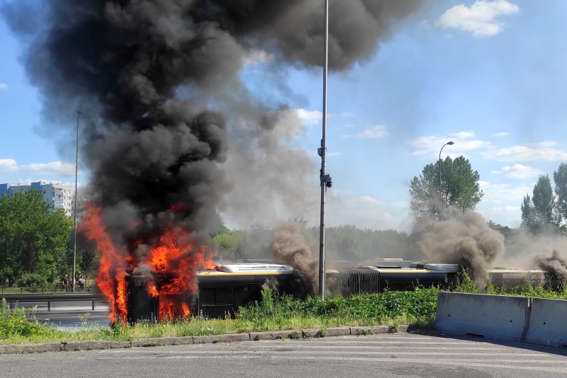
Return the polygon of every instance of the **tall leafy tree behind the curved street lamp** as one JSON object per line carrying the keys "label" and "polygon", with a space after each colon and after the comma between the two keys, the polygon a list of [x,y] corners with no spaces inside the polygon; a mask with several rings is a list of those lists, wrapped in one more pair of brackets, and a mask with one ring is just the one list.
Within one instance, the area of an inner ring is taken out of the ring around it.
{"label": "tall leafy tree behind the curved street lamp", "polygon": [[439,217],[442,200],[447,214],[464,214],[475,210],[484,195],[478,185],[480,175],[473,171],[464,156],[452,160],[449,156],[442,161],[442,183],[439,189],[439,161],[427,164],[419,178],[410,183],[412,200],[410,208],[418,217]]}

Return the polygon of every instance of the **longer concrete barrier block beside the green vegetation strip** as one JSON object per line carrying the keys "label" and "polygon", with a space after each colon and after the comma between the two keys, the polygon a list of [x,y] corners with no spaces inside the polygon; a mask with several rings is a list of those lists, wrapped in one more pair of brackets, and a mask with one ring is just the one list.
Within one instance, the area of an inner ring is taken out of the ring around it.
{"label": "longer concrete barrier block beside the green vegetation strip", "polygon": [[435,329],[522,341],[529,324],[529,298],[439,292]]}

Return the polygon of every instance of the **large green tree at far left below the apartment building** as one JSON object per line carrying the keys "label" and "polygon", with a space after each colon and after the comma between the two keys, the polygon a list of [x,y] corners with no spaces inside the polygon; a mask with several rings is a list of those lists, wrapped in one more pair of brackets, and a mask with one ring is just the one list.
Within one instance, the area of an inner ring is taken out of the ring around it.
{"label": "large green tree at far left below the apartment building", "polygon": [[35,189],[0,197],[0,276],[49,277],[69,255],[72,220],[53,212]]}

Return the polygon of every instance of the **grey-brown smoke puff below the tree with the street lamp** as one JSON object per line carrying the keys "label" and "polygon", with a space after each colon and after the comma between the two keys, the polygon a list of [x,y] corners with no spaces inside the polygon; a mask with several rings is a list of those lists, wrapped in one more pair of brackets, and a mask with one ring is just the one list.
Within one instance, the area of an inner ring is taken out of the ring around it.
{"label": "grey-brown smoke puff below the tree with the street lamp", "polygon": [[428,263],[454,263],[469,269],[481,292],[488,285],[491,263],[505,249],[504,236],[488,227],[476,212],[443,222],[423,219],[416,231]]}

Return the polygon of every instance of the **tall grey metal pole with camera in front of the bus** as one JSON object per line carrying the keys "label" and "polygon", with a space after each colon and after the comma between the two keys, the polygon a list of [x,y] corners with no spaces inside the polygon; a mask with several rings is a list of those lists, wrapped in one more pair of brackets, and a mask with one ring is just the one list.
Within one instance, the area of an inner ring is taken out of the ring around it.
{"label": "tall grey metal pole with camera in front of the bus", "polygon": [[319,234],[319,295],[325,300],[325,195],[327,182],[324,180],[327,154],[327,69],[328,69],[329,0],[325,0],[325,32],[323,36],[323,132],[321,139],[321,227]]}

